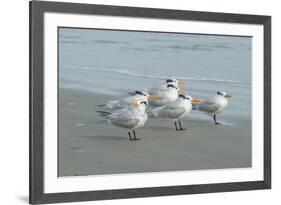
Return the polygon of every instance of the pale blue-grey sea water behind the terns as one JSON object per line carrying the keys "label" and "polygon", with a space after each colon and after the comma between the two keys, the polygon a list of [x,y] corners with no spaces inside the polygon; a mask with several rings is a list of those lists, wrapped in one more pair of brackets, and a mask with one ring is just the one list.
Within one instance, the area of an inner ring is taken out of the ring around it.
{"label": "pale blue-grey sea water behind the terns", "polygon": [[177,78],[193,97],[230,93],[237,125],[251,120],[251,50],[251,37],[60,28],[59,87],[118,98]]}

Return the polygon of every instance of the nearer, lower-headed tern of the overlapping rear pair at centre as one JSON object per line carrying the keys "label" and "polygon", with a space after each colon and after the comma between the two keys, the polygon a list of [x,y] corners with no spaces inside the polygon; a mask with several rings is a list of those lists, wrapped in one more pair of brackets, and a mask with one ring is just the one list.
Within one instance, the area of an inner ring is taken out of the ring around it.
{"label": "nearer, lower-headed tern of the overlapping rear pair at centre", "polygon": [[159,107],[175,101],[179,94],[185,94],[186,91],[181,90],[177,85],[168,83],[165,89],[151,88],[148,93],[157,96],[157,98],[149,99],[149,105]]}

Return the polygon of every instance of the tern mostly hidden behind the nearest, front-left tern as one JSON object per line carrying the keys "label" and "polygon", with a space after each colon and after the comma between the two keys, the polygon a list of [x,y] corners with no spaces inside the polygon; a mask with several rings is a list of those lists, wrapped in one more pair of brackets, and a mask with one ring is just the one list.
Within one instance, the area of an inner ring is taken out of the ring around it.
{"label": "tern mostly hidden behind the nearest, front-left tern", "polygon": [[105,109],[105,110],[117,110],[117,109],[123,109],[128,106],[130,106],[135,101],[148,101],[148,99],[156,99],[157,96],[150,95],[147,92],[143,91],[135,91],[133,93],[129,93],[131,96],[124,97],[118,100],[110,100],[106,104],[98,105],[99,109]]}

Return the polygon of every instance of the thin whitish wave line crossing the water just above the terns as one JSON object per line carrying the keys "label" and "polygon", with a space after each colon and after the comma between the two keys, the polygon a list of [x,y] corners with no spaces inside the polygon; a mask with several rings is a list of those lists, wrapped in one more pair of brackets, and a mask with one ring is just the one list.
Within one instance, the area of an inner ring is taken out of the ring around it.
{"label": "thin whitish wave line crossing the water just above the terns", "polygon": [[[115,73],[119,75],[126,75],[138,78],[149,78],[149,79],[160,79],[165,80],[171,78],[171,76],[164,75],[148,75],[137,72],[132,72],[123,69],[100,69],[91,66],[61,66],[61,69],[71,69],[71,70],[81,70],[81,71],[95,71],[95,72],[104,72],[104,73]],[[173,78],[187,81],[197,81],[197,82],[213,82],[213,83],[227,83],[227,84],[246,84],[250,85],[249,82],[242,82],[236,80],[224,80],[224,79],[210,79],[210,78],[195,78],[195,77],[181,77],[181,76],[172,76]]]}

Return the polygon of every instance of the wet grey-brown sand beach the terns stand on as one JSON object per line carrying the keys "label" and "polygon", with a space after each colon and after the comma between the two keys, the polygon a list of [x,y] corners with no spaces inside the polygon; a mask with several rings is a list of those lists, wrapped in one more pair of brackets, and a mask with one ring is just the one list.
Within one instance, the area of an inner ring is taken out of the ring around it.
{"label": "wet grey-brown sand beach the terns stand on", "polygon": [[189,117],[180,132],[170,121],[149,119],[136,131],[141,140],[130,141],[126,130],[102,122],[95,112],[95,105],[114,98],[59,89],[59,176],[251,166],[250,119],[233,117],[234,124],[215,126],[208,116]]}

